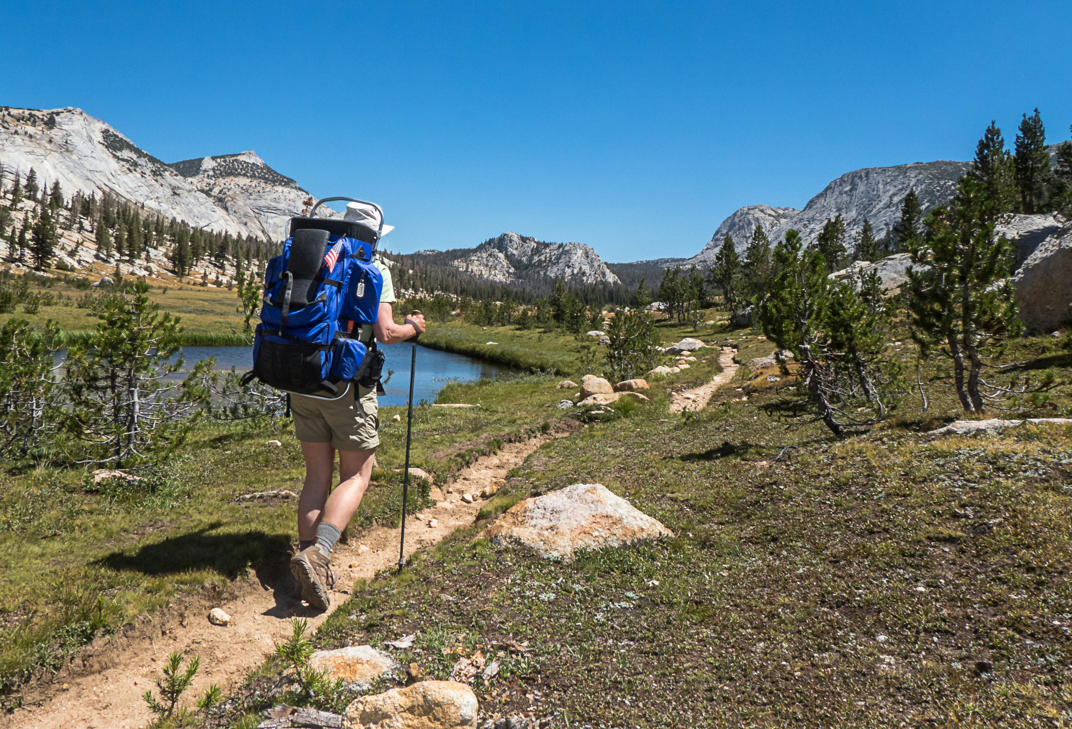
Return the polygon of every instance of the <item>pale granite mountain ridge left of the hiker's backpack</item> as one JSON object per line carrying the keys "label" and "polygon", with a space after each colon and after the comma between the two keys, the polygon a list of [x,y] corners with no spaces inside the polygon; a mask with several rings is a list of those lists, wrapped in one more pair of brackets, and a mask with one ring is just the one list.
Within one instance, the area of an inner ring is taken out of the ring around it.
{"label": "pale granite mountain ridge left of the hiker's backpack", "polygon": [[0,107],[0,163],[64,195],[109,193],[191,226],[280,241],[309,193],[255,152],[167,164],[81,109]]}

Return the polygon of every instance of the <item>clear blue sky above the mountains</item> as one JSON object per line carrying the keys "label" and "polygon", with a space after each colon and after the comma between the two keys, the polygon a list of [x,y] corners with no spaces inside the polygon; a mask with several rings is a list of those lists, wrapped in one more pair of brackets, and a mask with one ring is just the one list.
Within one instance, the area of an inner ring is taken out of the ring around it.
{"label": "clear blue sky above the mountains", "polygon": [[166,162],[255,149],[384,206],[388,247],[505,230],[690,256],[754,202],[1072,123],[1072,3],[0,3],[0,104]]}

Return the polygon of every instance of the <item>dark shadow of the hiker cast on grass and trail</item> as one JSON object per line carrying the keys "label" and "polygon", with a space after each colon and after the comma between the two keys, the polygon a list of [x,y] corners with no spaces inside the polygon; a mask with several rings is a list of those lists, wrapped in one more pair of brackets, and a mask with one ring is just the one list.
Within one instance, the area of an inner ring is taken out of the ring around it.
{"label": "dark shadow of the hiker cast on grass and trail", "polygon": [[296,594],[297,586],[288,567],[291,538],[260,530],[217,532],[223,523],[217,521],[194,532],[146,544],[133,552],[114,551],[95,564],[158,577],[207,569],[228,580],[251,569],[260,587],[271,590],[276,599],[274,607],[265,614],[276,618],[304,614],[307,609]]}

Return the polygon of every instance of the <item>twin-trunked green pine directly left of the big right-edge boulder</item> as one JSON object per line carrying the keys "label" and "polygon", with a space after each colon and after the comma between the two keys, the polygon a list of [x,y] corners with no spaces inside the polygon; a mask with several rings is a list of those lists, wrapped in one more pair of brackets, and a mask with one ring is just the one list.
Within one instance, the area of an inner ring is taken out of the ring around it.
{"label": "twin-trunked green pine directly left of the big right-edge boulder", "polygon": [[926,234],[911,250],[915,265],[906,287],[912,338],[924,356],[938,352],[953,361],[967,412],[983,412],[991,399],[982,379],[985,351],[1023,328],[1008,278],[1014,248],[980,215],[987,209],[984,195],[983,182],[966,174],[953,207],[928,215]]}

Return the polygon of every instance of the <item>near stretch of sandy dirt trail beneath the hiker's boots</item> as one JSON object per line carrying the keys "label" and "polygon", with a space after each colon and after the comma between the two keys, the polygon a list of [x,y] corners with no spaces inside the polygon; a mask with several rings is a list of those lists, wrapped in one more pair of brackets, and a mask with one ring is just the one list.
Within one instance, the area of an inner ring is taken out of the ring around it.
{"label": "near stretch of sandy dirt trail beneath the hiker's boots", "polygon": [[[496,480],[505,479],[510,469],[520,466],[531,453],[554,437],[508,443],[497,454],[477,459],[442,491],[433,487],[433,496],[443,500],[406,519],[406,556],[437,544],[459,527],[473,523],[483,503],[478,497],[480,491],[489,486],[494,488]],[[463,493],[473,495],[473,503],[462,501]],[[432,519],[436,519],[435,527],[428,526]],[[349,544],[340,543],[336,547],[332,569],[337,589],[331,593],[331,607],[326,612],[310,610],[292,596],[294,581],[289,573],[281,574],[267,584],[256,578],[239,580],[229,599],[198,601],[196,606],[191,605],[170,621],[148,621],[151,627],[142,635],[106,639],[101,655],[93,656],[93,667],[88,672],[86,669],[61,671],[54,681],[38,689],[34,703],[29,703],[33,697],[28,697],[27,705],[0,717],[0,726],[19,729],[144,727],[152,716],[142,694],[148,688],[154,689],[153,680],[161,674],[173,651],[200,656],[200,670],[183,696],[182,705],[192,707],[194,699],[212,683],[219,684],[226,695],[264,662],[276,641],[291,633],[288,620],[292,617],[306,617],[310,627],[316,628],[349,597],[356,580],[369,579],[394,566],[399,558],[399,536],[398,529],[376,527],[353,537]],[[177,607],[173,606],[172,610]],[[222,607],[230,614],[227,627],[208,622],[211,607]]]}

